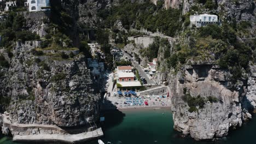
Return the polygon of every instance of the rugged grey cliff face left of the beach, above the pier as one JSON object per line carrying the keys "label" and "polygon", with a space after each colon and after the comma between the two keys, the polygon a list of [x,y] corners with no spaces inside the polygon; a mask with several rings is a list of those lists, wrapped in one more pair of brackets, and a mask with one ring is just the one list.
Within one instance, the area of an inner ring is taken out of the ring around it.
{"label": "rugged grey cliff face left of the beach, above the pier", "polygon": [[13,122],[72,127],[97,121],[100,95],[94,92],[85,57],[54,61],[34,56],[39,42],[18,42],[1,77],[1,95],[11,98],[7,111]]}

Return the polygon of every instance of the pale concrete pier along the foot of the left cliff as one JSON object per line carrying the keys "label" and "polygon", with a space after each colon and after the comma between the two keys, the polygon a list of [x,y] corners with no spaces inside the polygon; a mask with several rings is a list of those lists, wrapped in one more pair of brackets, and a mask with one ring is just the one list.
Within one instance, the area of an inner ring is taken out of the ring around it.
{"label": "pale concrete pier along the foot of the left cliff", "polygon": [[[101,128],[91,127],[78,134],[69,134],[68,131],[57,127],[57,125],[46,124],[19,124],[11,122],[9,115],[0,114],[0,121],[3,125],[4,134],[9,130],[13,135],[13,141],[16,142],[65,142],[78,143],[103,136]],[[38,132],[36,132],[38,130]],[[69,130],[70,131],[70,130]]]}

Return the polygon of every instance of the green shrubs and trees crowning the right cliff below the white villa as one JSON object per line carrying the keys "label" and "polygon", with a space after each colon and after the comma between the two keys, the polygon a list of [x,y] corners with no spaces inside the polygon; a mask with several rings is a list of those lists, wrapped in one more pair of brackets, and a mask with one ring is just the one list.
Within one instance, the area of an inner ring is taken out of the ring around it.
{"label": "green shrubs and trees crowning the right cliff below the white villa", "polygon": [[167,58],[168,67],[177,68],[183,64],[218,64],[221,68],[229,69],[232,81],[236,82],[242,77],[242,69],[249,70],[248,64],[253,59],[252,52],[255,47],[255,43],[245,44],[238,41],[236,31],[237,29],[225,22],[222,26],[207,25],[184,31],[174,53]]}

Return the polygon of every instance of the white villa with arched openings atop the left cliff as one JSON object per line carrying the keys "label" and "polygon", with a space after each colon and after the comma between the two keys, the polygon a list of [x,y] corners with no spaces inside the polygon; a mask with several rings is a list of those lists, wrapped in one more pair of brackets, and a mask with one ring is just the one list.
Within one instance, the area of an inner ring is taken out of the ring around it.
{"label": "white villa with arched openings atop the left cliff", "polygon": [[28,7],[30,12],[32,11],[46,11],[49,10],[46,7],[50,6],[50,0],[27,0],[25,7]]}

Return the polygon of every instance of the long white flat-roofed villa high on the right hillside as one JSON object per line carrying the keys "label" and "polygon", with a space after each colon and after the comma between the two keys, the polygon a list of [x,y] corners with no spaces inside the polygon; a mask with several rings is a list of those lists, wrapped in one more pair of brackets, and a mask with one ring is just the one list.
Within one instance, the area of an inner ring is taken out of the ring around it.
{"label": "long white flat-roofed villa high on the right hillside", "polygon": [[220,20],[217,15],[190,15],[190,22],[194,24],[196,27],[206,26],[210,23],[216,23],[217,25],[221,25]]}

